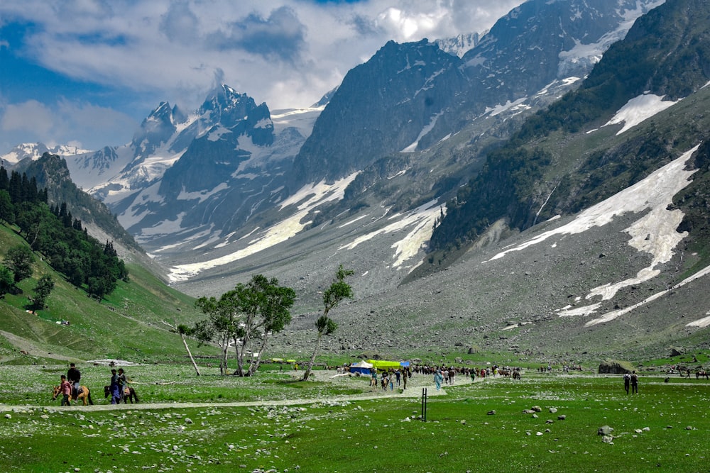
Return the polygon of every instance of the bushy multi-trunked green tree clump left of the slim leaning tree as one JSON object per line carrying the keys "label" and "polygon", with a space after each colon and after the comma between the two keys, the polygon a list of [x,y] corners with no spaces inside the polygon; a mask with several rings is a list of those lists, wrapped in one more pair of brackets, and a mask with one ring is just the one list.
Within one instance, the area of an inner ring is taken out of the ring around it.
{"label": "bushy multi-trunked green tree clump left of the slim leaning tree", "polygon": [[291,321],[290,308],[295,292],[279,286],[278,279],[254,275],[249,283],[239,283],[231,291],[214,297],[197,299],[208,318],[195,325],[200,340],[217,340],[222,348],[220,372],[226,373],[229,345],[236,351],[237,369],[234,374],[246,377],[256,372],[268,337],[278,333]]}

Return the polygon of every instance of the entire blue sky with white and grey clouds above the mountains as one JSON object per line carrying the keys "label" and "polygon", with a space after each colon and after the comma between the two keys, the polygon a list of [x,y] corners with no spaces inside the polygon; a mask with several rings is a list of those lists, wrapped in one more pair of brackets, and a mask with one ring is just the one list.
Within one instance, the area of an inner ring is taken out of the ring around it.
{"label": "entire blue sky with white and grey clouds above the mountains", "polygon": [[0,154],[128,143],[160,101],[228,84],[309,106],[388,40],[481,32],[522,0],[4,0]]}

